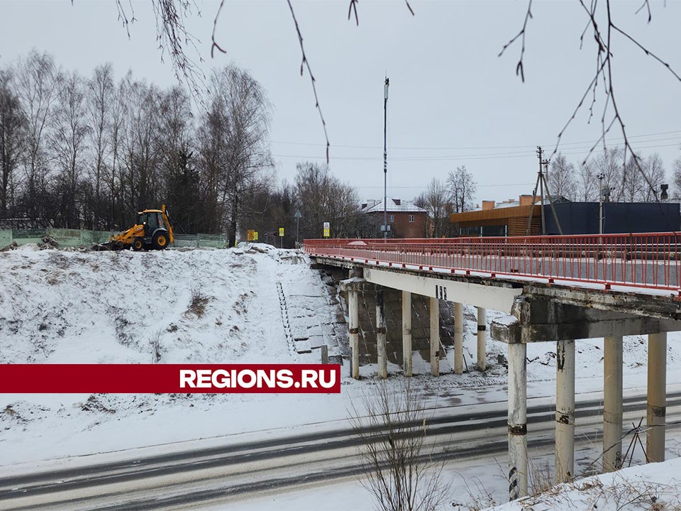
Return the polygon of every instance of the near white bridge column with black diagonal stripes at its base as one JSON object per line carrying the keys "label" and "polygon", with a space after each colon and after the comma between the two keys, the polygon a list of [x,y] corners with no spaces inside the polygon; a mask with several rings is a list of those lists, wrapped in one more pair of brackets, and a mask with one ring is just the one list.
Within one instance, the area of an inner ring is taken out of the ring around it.
{"label": "near white bridge column with black diagonal stripes at its base", "polygon": [[527,495],[526,353],[526,344],[509,344],[509,500]]}

